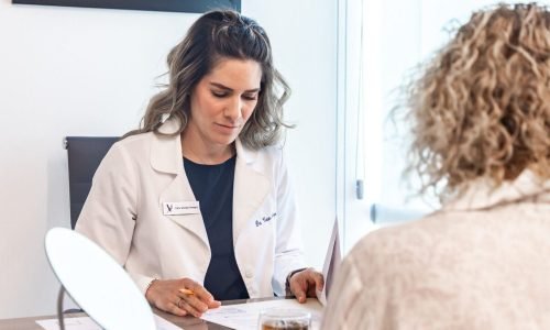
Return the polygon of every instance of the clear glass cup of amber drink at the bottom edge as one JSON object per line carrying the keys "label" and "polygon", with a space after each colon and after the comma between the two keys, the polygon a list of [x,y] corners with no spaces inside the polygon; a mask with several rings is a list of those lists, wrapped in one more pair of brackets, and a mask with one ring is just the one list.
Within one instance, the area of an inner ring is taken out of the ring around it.
{"label": "clear glass cup of amber drink at the bottom edge", "polygon": [[260,330],[309,330],[311,314],[299,309],[272,308],[260,312]]}

